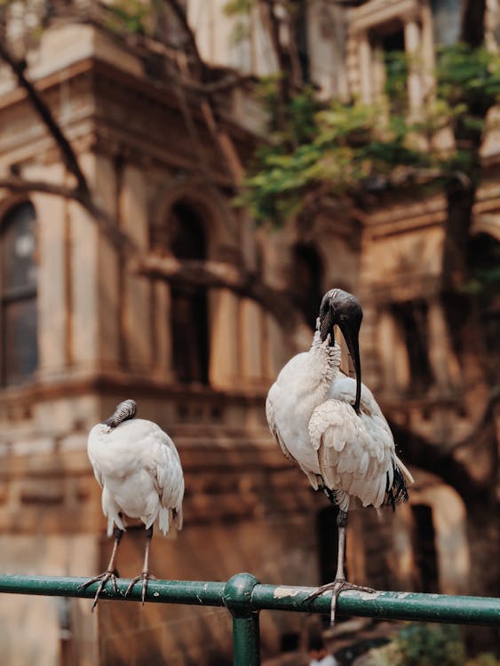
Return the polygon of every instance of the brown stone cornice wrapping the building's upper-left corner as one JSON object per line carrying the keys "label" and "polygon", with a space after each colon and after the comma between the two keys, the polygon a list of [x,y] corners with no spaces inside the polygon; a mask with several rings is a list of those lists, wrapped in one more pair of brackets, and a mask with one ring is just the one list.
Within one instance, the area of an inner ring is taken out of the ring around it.
{"label": "brown stone cornice wrapping the building's upper-left corner", "polygon": [[[161,87],[145,76],[131,75],[98,58],[84,59],[36,81],[49,105],[63,107],[61,126],[77,151],[95,150],[104,155],[127,155],[141,166],[168,166],[188,171],[200,170],[200,150],[218,186],[233,186],[218,147],[207,131],[202,115],[199,91],[183,91],[166,81]],[[199,141],[194,145],[187,131],[182,107],[197,128]],[[0,115],[11,126],[8,137],[0,141],[0,164],[30,160],[47,163],[53,152],[42,123],[30,111],[26,94],[19,88],[0,97]],[[59,114],[61,115],[61,114]],[[243,151],[253,144],[253,137],[228,119],[219,121]]]}

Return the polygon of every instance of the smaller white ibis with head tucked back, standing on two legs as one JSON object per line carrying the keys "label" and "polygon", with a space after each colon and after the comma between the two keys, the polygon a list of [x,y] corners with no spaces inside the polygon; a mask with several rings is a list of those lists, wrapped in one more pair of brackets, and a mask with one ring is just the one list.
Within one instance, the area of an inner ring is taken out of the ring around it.
{"label": "smaller white ibis with head tucked back, standing on two legs", "polygon": [[141,575],[131,580],[125,593],[142,581],[142,602],[147,581],[153,578],[148,570],[149,544],[153,526],[166,535],[171,519],[182,528],[184,476],[177,448],[171,438],[152,421],[134,418],[137,406],[133,400],[121,402],[113,416],[94,425],[89,434],[87,452],[94,474],[102,488],[102,511],[107,516],[107,535],[115,527],[115,544],[107,570],[83,583],[86,588],[100,581],[92,610],[108,580],[116,591],[115,556],[125,531],[123,515],[141,519],[146,528],[146,550]]}

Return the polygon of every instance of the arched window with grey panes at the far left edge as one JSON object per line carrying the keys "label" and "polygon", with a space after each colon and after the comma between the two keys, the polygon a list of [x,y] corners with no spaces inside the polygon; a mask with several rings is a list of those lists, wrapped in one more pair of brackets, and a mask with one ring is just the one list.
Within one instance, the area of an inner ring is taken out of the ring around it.
{"label": "arched window with grey panes at the far left edge", "polygon": [[9,210],[0,226],[0,362],[4,386],[26,382],[38,362],[35,223],[35,209],[24,202]]}

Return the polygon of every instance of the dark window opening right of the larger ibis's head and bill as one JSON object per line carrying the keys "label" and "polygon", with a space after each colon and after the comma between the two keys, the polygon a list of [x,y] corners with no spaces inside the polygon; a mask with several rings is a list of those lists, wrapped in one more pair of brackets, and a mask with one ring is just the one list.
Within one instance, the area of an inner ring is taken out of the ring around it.
{"label": "dark window opening right of the larger ibis's head and bill", "polygon": [[428,355],[427,304],[424,301],[397,303],[394,319],[401,326],[409,358],[409,392],[422,393],[433,383]]}

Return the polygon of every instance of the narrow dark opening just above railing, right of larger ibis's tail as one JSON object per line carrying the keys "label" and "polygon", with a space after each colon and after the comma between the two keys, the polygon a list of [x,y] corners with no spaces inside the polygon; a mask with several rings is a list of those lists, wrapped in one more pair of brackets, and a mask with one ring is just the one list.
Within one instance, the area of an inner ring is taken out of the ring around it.
{"label": "narrow dark opening just above railing, right of larger ibis's tail", "polygon": [[433,511],[425,504],[414,504],[411,511],[415,521],[413,552],[417,566],[418,591],[433,594],[440,591]]}

